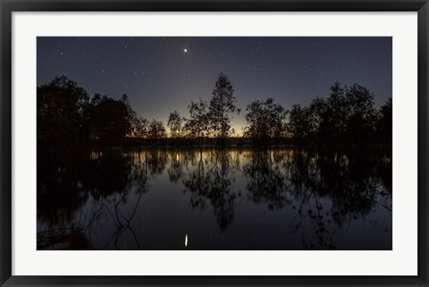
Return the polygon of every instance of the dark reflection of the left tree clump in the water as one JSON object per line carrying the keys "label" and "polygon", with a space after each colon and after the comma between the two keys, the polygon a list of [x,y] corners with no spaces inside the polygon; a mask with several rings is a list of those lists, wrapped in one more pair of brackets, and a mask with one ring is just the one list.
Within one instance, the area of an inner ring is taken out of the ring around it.
{"label": "dark reflection of the left tree clump in the water", "polygon": [[[147,158],[143,162],[139,156],[125,154],[122,148],[79,154],[73,150],[40,150],[38,221],[46,227],[38,232],[38,246],[69,242],[67,249],[82,248],[74,241],[84,242],[85,232],[90,233],[92,224],[105,215],[111,215],[117,225],[116,241],[123,232],[133,232],[130,221],[141,194],[149,188],[149,164]],[[120,207],[127,203],[131,192],[138,194],[138,199],[133,203],[133,213],[124,215]],[[88,239],[85,246],[91,246]]]}

